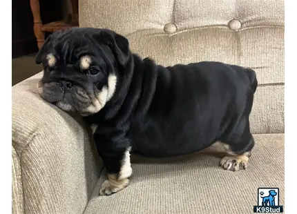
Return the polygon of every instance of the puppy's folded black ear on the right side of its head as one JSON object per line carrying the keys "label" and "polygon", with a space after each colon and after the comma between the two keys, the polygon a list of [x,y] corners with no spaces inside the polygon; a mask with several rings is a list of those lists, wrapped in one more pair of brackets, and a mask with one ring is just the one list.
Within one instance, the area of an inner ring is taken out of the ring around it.
{"label": "puppy's folded black ear on the right side of its head", "polygon": [[95,39],[98,43],[106,43],[113,50],[119,64],[126,66],[130,57],[128,39],[111,30],[100,31]]}

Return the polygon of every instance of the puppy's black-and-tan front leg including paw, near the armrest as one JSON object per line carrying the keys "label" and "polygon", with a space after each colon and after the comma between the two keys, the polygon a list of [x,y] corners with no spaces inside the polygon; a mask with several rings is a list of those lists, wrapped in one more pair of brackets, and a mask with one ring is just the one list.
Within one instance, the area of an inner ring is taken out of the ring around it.
{"label": "puppy's black-and-tan front leg including paw, near the armrest", "polygon": [[[102,144],[102,142],[99,142]],[[98,145],[98,144],[97,144]],[[122,145],[122,144],[119,144]],[[106,166],[107,177],[102,184],[99,194],[111,195],[121,191],[129,184],[129,177],[132,175],[130,162],[130,146],[125,148],[116,148],[102,150],[101,146],[97,146],[99,155]],[[122,146],[118,146],[122,147]]]}

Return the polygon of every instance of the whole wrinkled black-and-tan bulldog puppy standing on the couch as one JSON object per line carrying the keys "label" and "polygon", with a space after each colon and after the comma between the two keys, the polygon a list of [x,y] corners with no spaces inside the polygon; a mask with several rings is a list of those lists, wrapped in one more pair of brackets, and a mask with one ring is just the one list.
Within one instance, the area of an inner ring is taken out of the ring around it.
{"label": "whole wrinkled black-and-tan bulldog puppy standing on the couch", "polygon": [[169,157],[220,141],[222,168],[247,166],[257,87],[251,69],[213,61],[165,68],[131,53],[125,37],[95,28],[53,33],[36,62],[44,64],[41,97],[79,112],[93,128],[108,173],[101,195],[128,185],[131,152]]}

